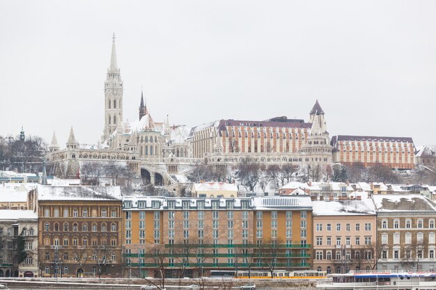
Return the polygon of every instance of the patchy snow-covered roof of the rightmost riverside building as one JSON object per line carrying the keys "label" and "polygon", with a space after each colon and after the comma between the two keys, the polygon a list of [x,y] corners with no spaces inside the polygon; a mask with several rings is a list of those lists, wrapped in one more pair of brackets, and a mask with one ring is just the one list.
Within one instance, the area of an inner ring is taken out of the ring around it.
{"label": "patchy snow-covered roof of the rightmost riverside building", "polygon": [[423,195],[373,195],[377,211],[436,211]]}

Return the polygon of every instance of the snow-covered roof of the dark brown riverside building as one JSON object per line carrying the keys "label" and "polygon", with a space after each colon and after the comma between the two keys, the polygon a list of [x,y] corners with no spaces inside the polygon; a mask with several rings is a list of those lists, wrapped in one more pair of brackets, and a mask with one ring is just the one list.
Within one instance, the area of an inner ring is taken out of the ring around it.
{"label": "snow-covered roof of the dark brown riverside building", "polygon": [[38,200],[121,200],[119,186],[38,186]]}

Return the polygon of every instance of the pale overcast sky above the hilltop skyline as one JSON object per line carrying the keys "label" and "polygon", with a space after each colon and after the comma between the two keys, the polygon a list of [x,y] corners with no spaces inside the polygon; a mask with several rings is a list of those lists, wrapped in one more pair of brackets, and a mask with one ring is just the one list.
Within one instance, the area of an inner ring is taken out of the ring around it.
{"label": "pale overcast sky above the hilltop skyline", "polygon": [[116,33],[124,120],[309,118],[435,144],[436,1],[3,1],[0,135],[96,143]]}

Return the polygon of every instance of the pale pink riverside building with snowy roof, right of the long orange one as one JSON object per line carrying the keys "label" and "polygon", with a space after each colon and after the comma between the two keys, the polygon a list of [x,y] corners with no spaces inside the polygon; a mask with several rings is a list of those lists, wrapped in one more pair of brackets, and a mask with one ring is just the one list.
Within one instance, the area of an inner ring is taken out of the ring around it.
{"label": "pale pink riverside building with snowy roof, right of the long orange one", "polygon": [[313,269],[327,273],[376,266],[376,212],[371,198],[313,205]]}

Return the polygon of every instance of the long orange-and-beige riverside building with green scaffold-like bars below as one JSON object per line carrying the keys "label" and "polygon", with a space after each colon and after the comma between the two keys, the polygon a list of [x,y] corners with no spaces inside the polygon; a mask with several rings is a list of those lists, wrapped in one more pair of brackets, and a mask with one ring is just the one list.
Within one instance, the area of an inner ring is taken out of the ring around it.
{"label": "long orange-and-beige riverside building with green scaffold-like bars below", "polygon": [[[309,196],[124,197],[125,266],[134,276],[198,277],[211,270],[310,269]],[[162,268],[161,267],[161,268]]]}

